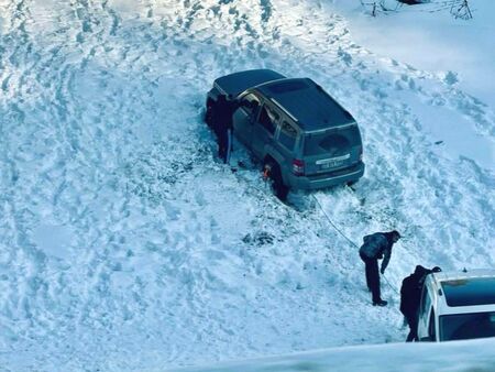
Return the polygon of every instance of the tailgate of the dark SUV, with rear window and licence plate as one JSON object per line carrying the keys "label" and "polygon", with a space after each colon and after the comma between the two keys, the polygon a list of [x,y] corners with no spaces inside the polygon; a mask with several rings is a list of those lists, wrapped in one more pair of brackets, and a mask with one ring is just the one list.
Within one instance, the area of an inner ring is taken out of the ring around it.
{"label": "tailgate of the dark SUV, with rear window and licence plate", "polygon": [[361,133],[355,122],[305,134],[306,175],[346,168],[360,162]]}

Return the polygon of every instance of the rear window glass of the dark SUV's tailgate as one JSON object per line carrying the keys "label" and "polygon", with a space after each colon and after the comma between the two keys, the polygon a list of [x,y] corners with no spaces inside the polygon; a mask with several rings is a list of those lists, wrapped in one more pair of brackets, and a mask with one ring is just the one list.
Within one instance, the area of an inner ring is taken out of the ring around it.
{"label": "rear window glass of the dark SUV's tailgate", "polygon": [[342,155],[349,152],[350,147],[361,145],[361,133],[358,124],[345,127],[344,129],[329,130],[323,133],[305,136],[305,155]]}

